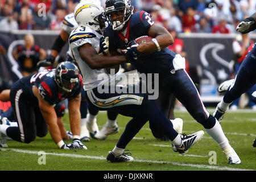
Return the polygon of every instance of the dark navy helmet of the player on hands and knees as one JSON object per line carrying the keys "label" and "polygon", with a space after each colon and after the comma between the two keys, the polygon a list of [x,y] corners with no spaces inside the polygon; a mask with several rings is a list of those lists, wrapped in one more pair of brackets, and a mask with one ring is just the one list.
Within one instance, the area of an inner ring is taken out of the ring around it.
{"label": "dark navy helmet of the player on hands and knees", "polygon": [[57,65],[54,80],[61,90],[70,93],[79,86],[79,69],[69,61],[62,62]]}

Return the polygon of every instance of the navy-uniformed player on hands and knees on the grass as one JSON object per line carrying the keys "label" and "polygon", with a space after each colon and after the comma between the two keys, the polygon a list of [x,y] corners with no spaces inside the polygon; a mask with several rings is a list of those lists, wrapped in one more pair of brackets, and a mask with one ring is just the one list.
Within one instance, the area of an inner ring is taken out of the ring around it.
{"label": "navy-uniformed player on hands and knees on the grass", "polygon": [[[75,64],[60,63],[56,69],[44,70],[16,81],[11,88],[10,100],[18,126],[0,125],[0,139],[9,137],[30,143],[36,136],[51,134],[57,147],[86,149],[80,141],[81,75]],[[73,143],[65,144],[57,125],[54,104],[68,98],[69,121]]]}

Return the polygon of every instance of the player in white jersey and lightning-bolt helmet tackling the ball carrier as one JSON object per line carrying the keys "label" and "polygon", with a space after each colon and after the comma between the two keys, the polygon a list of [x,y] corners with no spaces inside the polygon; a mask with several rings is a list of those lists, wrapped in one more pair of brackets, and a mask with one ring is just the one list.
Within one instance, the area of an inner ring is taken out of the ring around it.
{"label": "player in white jersey and lightning-bolt helmet tackling the ball carrier", "polygon": [[[126,86],[102,85],[102,82],[109,83],[112,78],[119,76],[117,73],[119,65],[129,62],[127,60],[130,60],[130,55],[126,53],[124,56],[102,56],[100,54],[100,40],[106,24],[104,9],[96,1],[79,3],[74,11],[74,16],[79,27],[71,32],[69,47],[74,60],[79,65],[89,104],[98,110],[114,110],[119,114],[132,117],[117,145],[113,151],[109,152],[107,160],[109,162],[133,162],[133,158],[124,153],[125,148],[147,121],[157,124],[181,154],[199,142],[204,131],[191,135],[178,134],[172,122],[159,110],[155,101],[148,100],[148,94],[130,92],[129,84]],[[117,74],[110,75],[109,68],[115,68],[114,71]],[[125,74],[122,73],[122,75]],[[100,93],[98,89],[103,86],[106,86],[107,92]],[[116,89],[121,87],[129,92],[118,93]],[[114,88],[114,92],[111,92],[112,88]]]}

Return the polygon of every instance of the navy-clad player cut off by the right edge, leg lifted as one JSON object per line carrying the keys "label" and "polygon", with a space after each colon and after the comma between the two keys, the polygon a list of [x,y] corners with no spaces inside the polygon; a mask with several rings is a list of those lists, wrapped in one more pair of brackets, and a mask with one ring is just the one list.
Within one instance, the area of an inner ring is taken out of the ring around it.
{"label": "navy-clad player cut off by the right edge, leg lifted", "polygon": [[[242,20],[237,26],[237,31],[242,34],[247,34],[256,29],[256,13],[251,15],[249,18]],[[224,117],[226,111],[228,111],[230,104],[237,98],[241,97],[243,93],[252,88],[256,84],[256,48],[255,45],[253,49],[246,55],[245,59],[242,61],[240,68],[238,69],[235,80],[229,80],[223,82],[219,88],[218,92],[226,91],[221,102],[218,103],[213,115],[221,121]],[[255,100],[255,92],[252,94],[253,101]],[[253,146],[256,146],[256,139],[254,140]]]}

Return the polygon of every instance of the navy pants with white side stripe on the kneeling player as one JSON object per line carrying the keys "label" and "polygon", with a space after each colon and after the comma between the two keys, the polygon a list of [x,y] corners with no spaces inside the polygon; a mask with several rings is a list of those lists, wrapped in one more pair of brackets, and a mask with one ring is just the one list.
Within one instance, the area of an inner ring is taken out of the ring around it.
{"label": "navy pants with white side stripe on the kneeling player", "polygon": [[39,107],[28,103],[24,95],[22,85],[19,81],[15,82],[11,88],[10,99],[18,127],[9,127],[6,133],[13,140],[30,143],[36,136],[45,137],[48,128]]}

